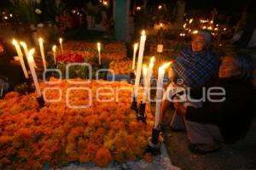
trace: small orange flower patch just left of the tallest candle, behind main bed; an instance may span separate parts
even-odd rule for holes
[[[112,61],[109,64],[109,69],[113,70],[115,75],[130,74],[132,69],[132,61]]]

